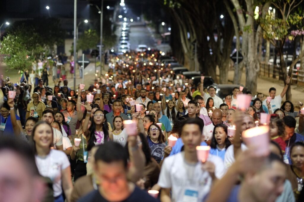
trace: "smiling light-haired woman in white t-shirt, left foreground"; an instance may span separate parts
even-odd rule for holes
[[[64,202],[62,190],[69,201],[73,189],[70,162],[62,151],[50,148],[53,145],[52,127],[45,121],[38,122],[32,138],[38,171],[53,182],[54,201]]]

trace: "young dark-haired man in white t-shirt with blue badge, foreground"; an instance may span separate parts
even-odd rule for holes
[[[162,202],[203,201],[209,193],[212,179],[217,177],[216,173],[224,173],[223,168],[211,160],[216,156],[210,155],[205,163],[198,161],[196,146],[201,144],[202,137],[199,122],[186,120],[181,132],[184,151],[165,158],[161,167],[157,184],[161,187]]]

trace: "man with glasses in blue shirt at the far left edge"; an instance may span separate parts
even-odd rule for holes
[[[9,110],[10,110],[10,107],[7,104],[7,101],[5,101],[0,108],[0,112],[1,112],[0,132],[3,133],[4,135],[14,136],[15,133],[14,133]],[[19,116],[17,116],[17,115],[15,115],[15,116],[16,116],[17,124],[19,125],[20,129],[22,129]]]

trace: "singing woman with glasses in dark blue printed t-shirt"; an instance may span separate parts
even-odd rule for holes
[[[157,161],[157,163],[160,163],[164,157],[164,148],[166,147],[161,128],[157,124],[151,124],[147,133],[151,156]]]

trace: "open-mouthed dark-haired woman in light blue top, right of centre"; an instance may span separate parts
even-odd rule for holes
[[[210,154],[221,157],[224,161],[226,149],[231,145],[227,136],[227,126],[217,124],[213,130],[213,136],[210,144]]]

